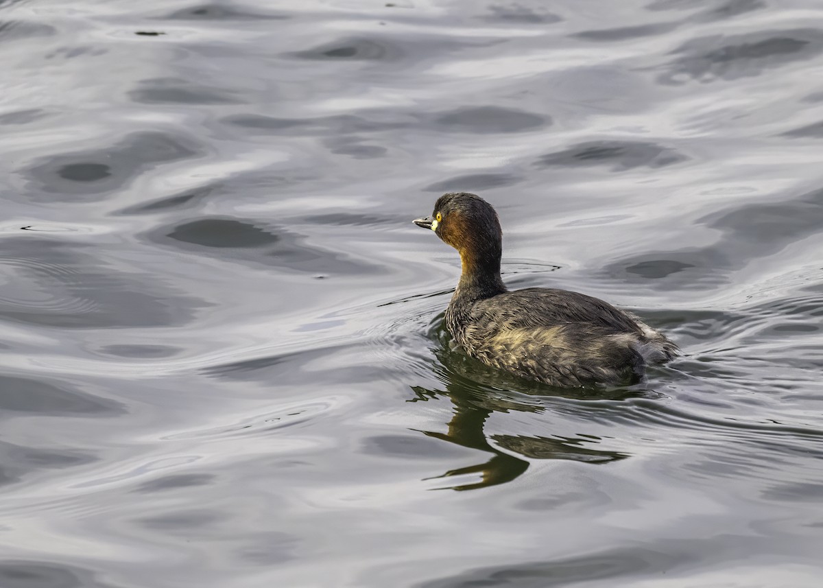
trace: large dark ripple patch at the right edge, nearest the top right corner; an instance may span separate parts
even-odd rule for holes
[[[745,35],[713,35],[690,40],[673,54],[658,82],[681,85],[755,77],[787,63],[823,53],[823,30],[766,30]]]

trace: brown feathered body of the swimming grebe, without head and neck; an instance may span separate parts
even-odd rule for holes
[[[617,384],[677,352],[672,341],[625,310],[551,288],[503,292],[470,304],[456,296],[446,322],[469,355],[550,385]]]

